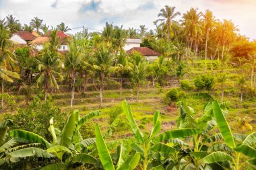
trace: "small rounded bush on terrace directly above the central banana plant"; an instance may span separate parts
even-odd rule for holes
[[[176,102],[186,97],[185,91],[181,91],[179,88],[172,88],[166,93],[166,101]]]

